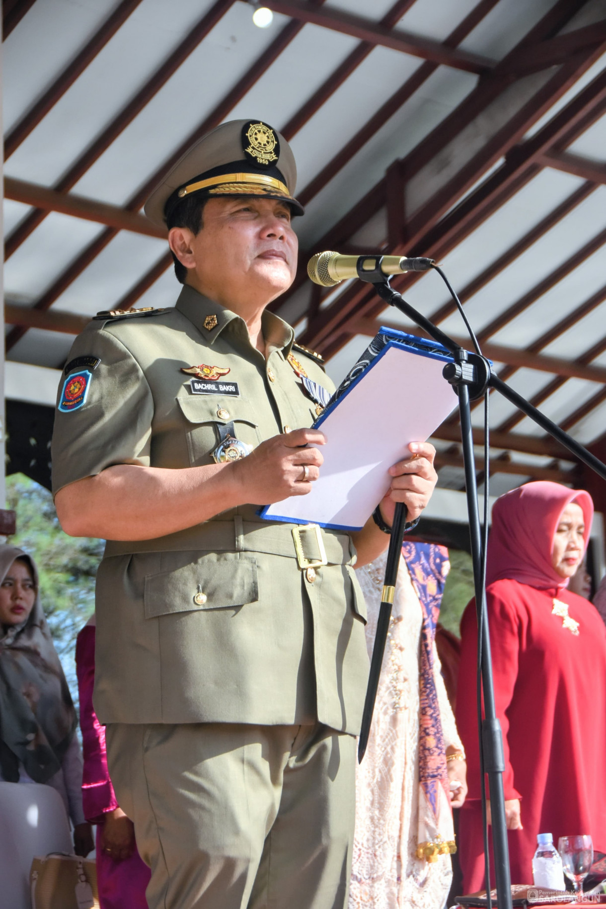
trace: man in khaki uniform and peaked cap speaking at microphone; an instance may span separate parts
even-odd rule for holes
[[[353,564],[435,484],[417,445],[357,534],[257,516],[310,491],[333,392],[265,309],[295,275],[295,180],[263,123],[194,145],[145,206],[176,305],[99,314],[59,389],[55,502],[68,534],[107,540],[94,704],[152,909],[346,903],[368,669]]]

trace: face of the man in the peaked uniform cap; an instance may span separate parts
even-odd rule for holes
[[[175,227],[171,236],[174,253],[188,268],[187,284],[228,307],[240,301],[266,305],[293,284],[298,241],[290,208],[280,200],[209,199],[199,234]]]

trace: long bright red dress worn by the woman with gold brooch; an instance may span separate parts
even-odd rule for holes
[[[486,594],[505,799],[520,798],[522,808],[523,830],[508,832],[512,884],[531,884],[537,834],[553,834],[556,847],[560,836],[591,834],[606,852],[606,629],[591,603],[555,586],[502,579]],[[551,613],[554,598],[569,605],[578,635]],[[459,831],[466,894],[484,879],[476,628],[472,601],[462,618],[456,712],[469,784]]]

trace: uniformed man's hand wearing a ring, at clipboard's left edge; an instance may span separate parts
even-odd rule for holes
[[[325,442],[318,429],[295,429],[262,442],[251,454],[230,467],[233,480],[241,489],[242,501],[266,505],[282,502],[289,495],[311,492],[324,459],[317,448],[304,446],[324,445]]]

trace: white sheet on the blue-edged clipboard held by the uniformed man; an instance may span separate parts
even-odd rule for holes
[[[320,478],[307,495],[293,495],[263,509],[263,517],[296,524],[358,530],[386,494],[388,469],[424,442],[457,405],[442,377],[447,357],[412,353],[389,345],[363,376],[329,408],[317,428]]]

